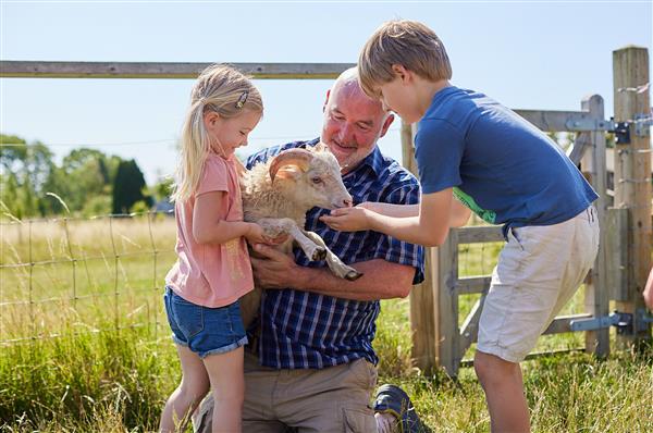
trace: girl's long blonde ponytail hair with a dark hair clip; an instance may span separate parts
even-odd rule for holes
[[[172,199],[185,201],[197,189],[204,163],[210,149],[204,115],[215,112],[223,119],[242,114],[245,110],[263,111],[258,89],[239,71],[223,64],[213,64],[199,74],[190,91],[190,107],[182,128],[181,159]]]

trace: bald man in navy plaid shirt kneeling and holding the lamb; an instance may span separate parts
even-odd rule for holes
[[[393,120],[362,92],[356,70],[348,70],[326,94],[320,139],[262,150],[249,158],[247,166],[281,150],[321,141],[341,164],[355,205],[417,203],[417,180],[377,147]],[[319,221],[328,212],[311,209],[306,228],[364,273],[355,282],[334,276],[323,262],[311,262],[300,251],[293,258],[255,246],[267,259],[251,259],[254,275],[267,290],[256,344],[259,358],[245,356],[245,432],[372,432],[377,422],[384,425],[379,430],[389,424],[391,416],[375,419],[369,406],[377,384],[374,322],[380,299],[406,297],[411,285],[423,280],[423,249],[375,232],[332,231]],[[391,386],[380,389],[374,408],[397,413],[406,405],[407,396]],[[210,403],[204,404],[196,417],[199,431],[210,431],[209,408]],[[415,419],[404,422],[416,424]]]

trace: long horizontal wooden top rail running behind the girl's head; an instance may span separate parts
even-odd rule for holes
[[[195,78],[211,63],[0,61],[9,78]],[[229,63],[255,78],[329,79],[354,63]]]

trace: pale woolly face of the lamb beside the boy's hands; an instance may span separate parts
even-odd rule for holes
[[[313,153],[309,169],[297,180],[296,197],[308,208],[346,208],[353,201],[337,160],[326,151]]]

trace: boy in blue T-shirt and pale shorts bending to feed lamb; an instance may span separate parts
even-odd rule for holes
[[[362,203],[322,221],[428,246],[467,222],[460,203],[504,224],[506,245],[481,314],[475,370],[492,431],[529,431],[519,362],[594,262],[596,193],[533,125],[485,95],[451,85],[444,46],[423,24],[385,23],[365,45],[358,66],[368,95],[404,121],[419,121],[421,202]]]

